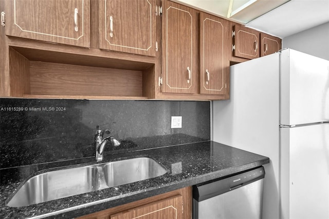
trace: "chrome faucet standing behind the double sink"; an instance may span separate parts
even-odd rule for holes
[[[103,160],[103,152],[107,142],[111,142],[114,147],[118,147],[121,142],[113,136],[103,138],[104,134],[110,134],[109,130],[101,131],[99,125],[96,126],[95,144],[96,144],[96,161]]]

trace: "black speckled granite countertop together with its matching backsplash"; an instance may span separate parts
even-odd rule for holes
[[[181,129],[171,129],[171,116],[182,116]],[[94,165],[97,125],[122,142],[105,147],[102,162],[146,156],[167,173],[40,204],[6,206],[29,177]],[[209,101],[0,98],[0,138],[1,218],[82,216],[269,162],[210,141]]]

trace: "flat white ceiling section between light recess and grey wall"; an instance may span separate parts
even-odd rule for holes
[[[291,0],[246,26],[283,39],[326,22],[329,22],[329,0]]]

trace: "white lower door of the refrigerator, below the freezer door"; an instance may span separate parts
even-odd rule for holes
[[[329,123],[280,133],[281,218],[329,218]]]

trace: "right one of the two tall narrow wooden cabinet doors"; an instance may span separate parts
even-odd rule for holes
[[[227,94],[229,23],[200,13],[200,93]]]

